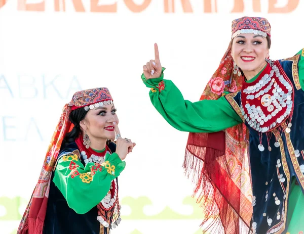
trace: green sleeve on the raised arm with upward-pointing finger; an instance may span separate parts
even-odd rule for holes
[[[217,132],[242,123],[225,97],[192,103],[184,100],[171,80],[163,78],[163,72],[155,79],[147,80],[143,74],[141,76],[144,84],[151,88],[152,104],[174,128],[187,132]]]

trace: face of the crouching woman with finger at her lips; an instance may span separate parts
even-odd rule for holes
[[[89,110],[81,127],[87,131],[91,141],[97,142],[115,138],[115,125],[119,123],[114,105],[106,105]]]

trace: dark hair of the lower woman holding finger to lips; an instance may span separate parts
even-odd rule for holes
[[[62,142],[62,147],[66,147],[69,143],[75,141],[75,139],[79,136],[79,134],[81,133],[79,123],[86,117],[87,113],[88,111],[86,111],[85,108],[79,108],[71,111],[69,115],[69,120],[72,124],[74,124],[74,127],[70,132],[65,135]]]

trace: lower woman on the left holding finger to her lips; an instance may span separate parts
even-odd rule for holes
[[[118,123],[107,88],[73,95],[63,108],[18,233],[108,234],[120,223],[117,177],[135,143],[122,139]],[[111,142],[115,138],[116,144]]]

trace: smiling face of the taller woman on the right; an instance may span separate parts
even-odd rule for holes
[[[269,57],[267,39],[253,33],[239,34],[232,42],[232,57],[240,69],[255,76],[266,65]]]

